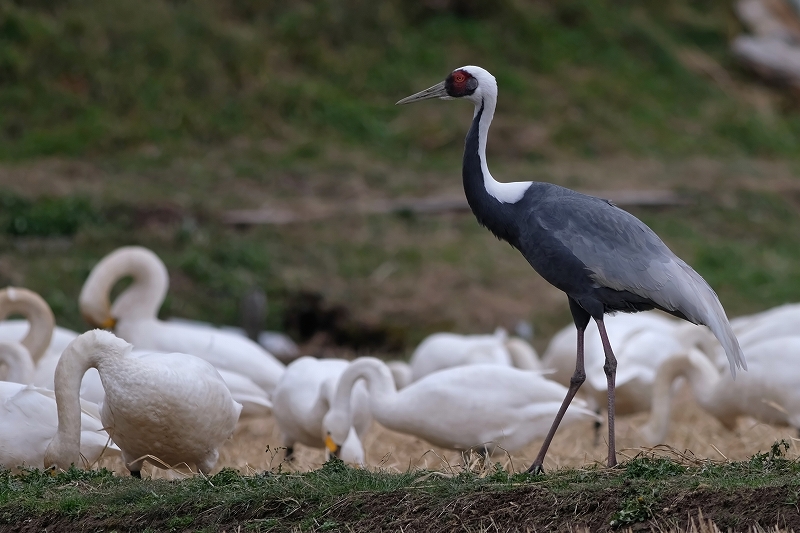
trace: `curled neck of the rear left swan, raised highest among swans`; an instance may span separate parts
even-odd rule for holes
[[[131,276],[133,283],[114,300],[111,315],[117,320],[155,318],[169,288],[164,263],[149,250],[118,252],[92,270],[81,290],[81,308],[107,310],[114,284]]]

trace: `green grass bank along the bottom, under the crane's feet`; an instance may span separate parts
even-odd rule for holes
[[[685,463],[648,455],[614,470],[564,469],[538,477],[508,473],[499,464],[441,475],[353,469],[336,460],[301,474],[245,476],[226,469],[177,482],[115,477],[105,470],[4,472],[0,530],[24,519],[48,530],[414,531],[427,524],[428,530],[444,531],[458,525],[453,520],[459,515],[467,531],[485,530],[490,518],[499,528],[583,525],[597,531],[642,522],[687,527],[697,507],[723,529],[772,527],[796,512],[800,491],[800,465],[781,457],[785,445],[776,443],[742,462]],[[741,507],[753,506],[752,512],[730,509],[737,499]],[[431,522],[433,516],[439,518]],[[780,525],[793,525],[794,516]]]

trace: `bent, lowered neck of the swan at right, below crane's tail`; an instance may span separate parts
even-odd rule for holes
[[[667,436],[672,412],[672,384],[681,376],[689,381],[697,403],[706,409],[710,406],[714,385],[720,379],[719,372],[711,361],[697,350],[672,357],[661,365],[653,383],[653,399],[648,421],[658,442],[663,442]],[[708,410],[713,411],[713,408]]]

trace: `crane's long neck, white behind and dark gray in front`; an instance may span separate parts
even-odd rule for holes
[[[482,98],[475,106],[472,126],[464,143],[464,192],[478,222],[498,238],[514,244],[511,206],[522,199],[531,183],[500,183],[489,172],[486,140],[495,106],[496,99],[491,97]]]

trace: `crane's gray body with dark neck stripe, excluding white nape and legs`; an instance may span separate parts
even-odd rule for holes
[[[731,372],[737,363],[744,366],[716,293],[641,220],[552,183],[531,182],[515,202],[489,194],[479,149],[482,113],[481,107],[467,134],[463,166],[464,191],[479,223],[593,318],[661,309],[709,326],[729,355]]]

